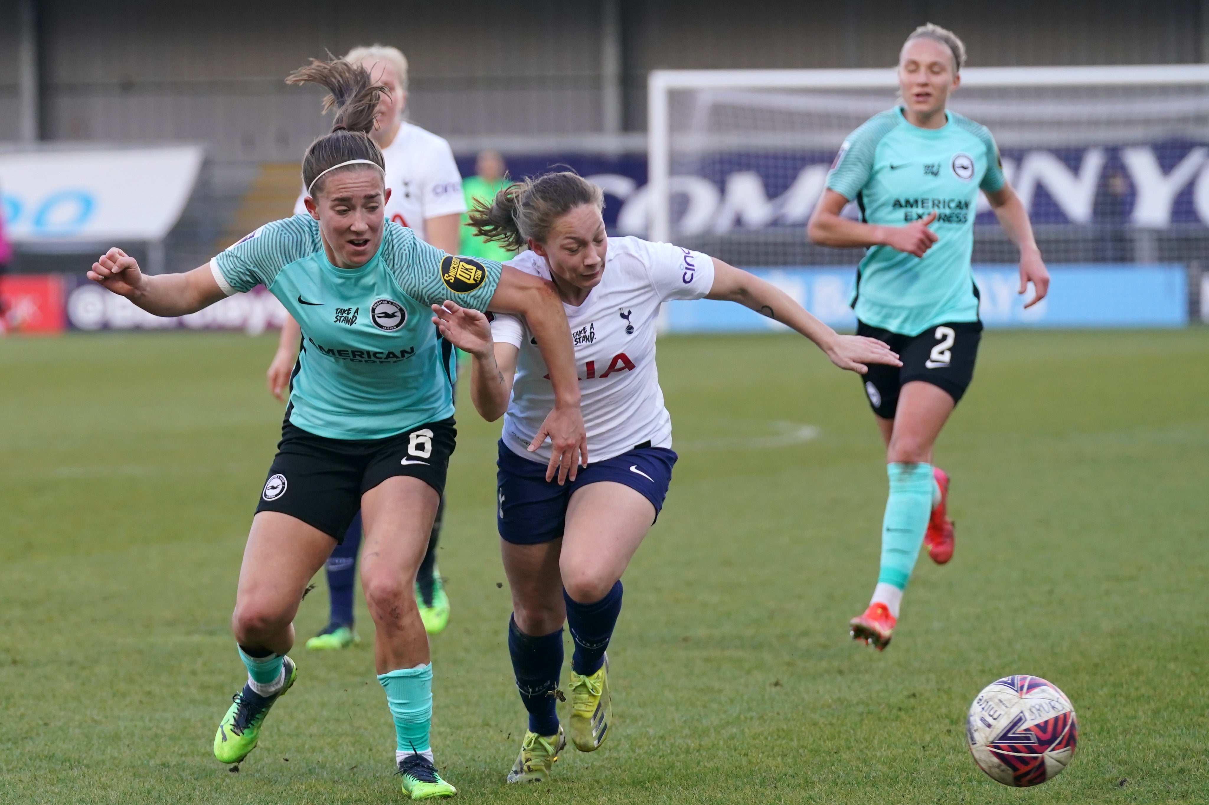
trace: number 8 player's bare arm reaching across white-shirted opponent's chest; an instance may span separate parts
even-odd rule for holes
[[[530,451],[550,438],[550,465],[545,480],[559,474],[559,483],[575,479],[577,467],[588,467],[588,433],[579,411],[579,377],[575,375],[575,351],[571,346],[571,328],[562,300],[549,282],[504,266],[496,294],[487,307],[501,313],[523,315],[528,323],[554,387],[554,410],[538,429]]]

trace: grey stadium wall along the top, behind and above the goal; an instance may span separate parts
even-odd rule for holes
[[[602,126],[603,0],[164,4],[41,0],[42,129],[52,140],[196,140],[224,160],[294,160],[318,93],[282,79],[307,57],[382,41],[412,63],[411,116],[444,135]],[[349,11],[349,10],[353,11]],[[1198,62],[1198,0],[863,4],[620,0],[624,127],[646,127],[654,68],[880,66],[914,25],[959,31],[970,63]],[[17,137],[16,4],[0,4],[0,140]]]

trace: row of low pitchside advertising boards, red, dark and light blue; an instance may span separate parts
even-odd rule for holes
[[[848,302],[852,268],[752,268],[808,311],[838,329],[851,330],[856,319]],[[1179,263],[1051,265],[1049,296],[1030,309],[1016,291],[1014,265],[976,265],[988,328],[1178,328],[1190,322],[1188,273]],[[1201,278],[1199,313],[1209,322],[1209,274]],[[204,311],[161,318],[110,294],[83,277],[25,274],[0,283],[10,325],[19,332],[50,334],[64,329],[98,330],[241,330],[259,335],[279,328],[285,308],[261,286],[236,294]],[[1031,295],[1031,290],[1030,290]],[[760,332],[783,325],[737,305],[701,300],[664,306],[664,332]]]

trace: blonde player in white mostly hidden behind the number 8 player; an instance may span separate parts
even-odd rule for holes
[[[462,197],[462,174],[447,141],[404,120],[407,109],[406,57],[395,47],[371,45],[354,47],[345,59],[365,66],[374,80],[387,88],[380,95],[376,128],[370,134],[386,157],[386,183],[392,191],[386,205],[387,219],[411,227],[417,237],[442,251],[459,254],[458,228],[467,210]],[[294,205],[295,215],[306,213],[305,198],[303,191]],[[279,400],[289,386],[300,337],[297,323],[288,318],[282,326],[277,354],[268,366],[268,388]],[[436,567],[444,515],[442,497],[428,552],[416,574],[416,602],[429,635],[442,631],[450,618],[449,596]],[[353,630],[353,585],[360,546],[361,519],[358,515],[348,527],[345,542],[328,561],[325,569],[331,612],[328,625],[307,641],[308,649],[341,649],[358,641]]]

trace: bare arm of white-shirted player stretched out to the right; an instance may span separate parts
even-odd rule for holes
[[[713,257],[713,285],[710,286],[706,299],[739,302],[760,315],[789,325],[814,341],[840,369],[863,375],[868,371],[866,364],[902,366],[898,355],[884,342],[864,336],[839,335],[808,313],[776,285],[717,257]]]

